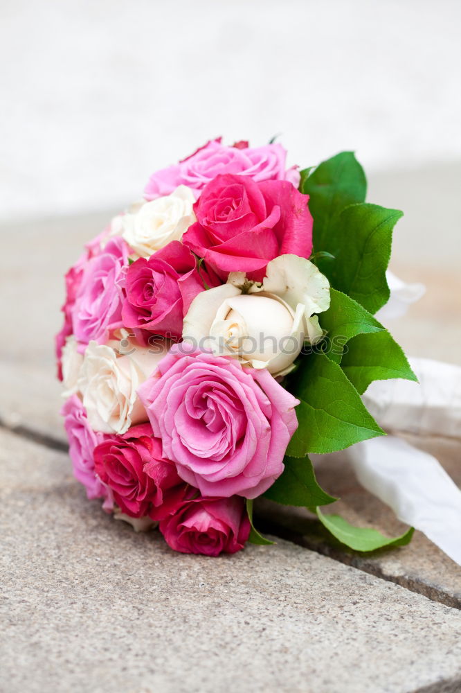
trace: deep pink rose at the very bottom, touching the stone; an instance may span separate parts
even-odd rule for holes
[[[197,498],[163,520],[160,531],[174,551],[219,556],[243,549],[250,522],[242,498]]]

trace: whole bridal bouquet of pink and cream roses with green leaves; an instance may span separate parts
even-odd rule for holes
[[[253,526],[260,495],[354,548],[410,541],[320,509],[336,499],[308,456],[383,435],[361,395],[415,380],[374,317],[401,212],[365,191],[352,152],[298,171],[279,143],[215,139],[88,243],[56,337],[88,498],[181,552],[270,543]]]

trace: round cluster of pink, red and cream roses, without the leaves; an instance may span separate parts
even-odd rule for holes
[[[280,477],[284,388],[320,339],[329,282],[280,144],[210,141],[154,173],[66,274],[56,337],[75,477],[170,547],[244,547],[246,500]]]

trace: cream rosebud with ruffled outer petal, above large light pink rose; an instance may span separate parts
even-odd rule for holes
[[[184,318],[183,339],[283,376],[305,340],[314,344],[322,337],[314,313],[328,307],[329,283],[316,265],[282,255],[269,262],[262,284],[233,272],[224,286],[197,295]]]

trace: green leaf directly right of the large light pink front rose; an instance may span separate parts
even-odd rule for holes
[[[301,400],[296,407],[298,429],[287,448],[291,457],[333,453],[383,435],[341,366],[324,353],[302,359],[289,390]]]

